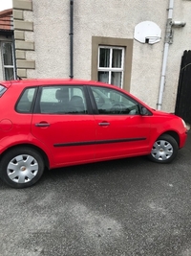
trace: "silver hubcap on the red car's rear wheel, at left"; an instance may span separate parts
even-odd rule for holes
[[[7,173],[13,182],[26,183],[37,175],[38,163],[32,155],[20,154],[11,159]]]

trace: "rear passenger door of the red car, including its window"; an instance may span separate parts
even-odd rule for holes
[[[95,120],[83,86],[42,86],[32,117],[32,135],[52,152],[57,166],[95,157]],[[91,144],[91,145],[90,145]]]

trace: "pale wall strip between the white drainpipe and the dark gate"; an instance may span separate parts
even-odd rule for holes
[[[183,28],[174,28],[173,44],[169,47],[166,84],[162,109],[174,111],[180,77],[180,62],[184,50],[191,50],[191,1],[175,0],[173,20],[186,22]]]

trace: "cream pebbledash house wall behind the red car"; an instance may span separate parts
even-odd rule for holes
[[[81,0],[74,2],[74,79],[97,79],[100,42],[126,47],[124,89],[156,108],[164,50],[168,0]],[[184,50],[191,48],[191,1],[174,1],[173,20],[186,22],[173,29],[169,46],[162,110],[174,111]],[[13,0],[18,76],[69,78],[70,0]],[[136,25],[155,22],[161,29],[158,43],[134,39]]]

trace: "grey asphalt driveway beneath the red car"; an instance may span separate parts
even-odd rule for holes
[[[136,157],[0,181],[1,256],[191,256],[191,132],[172,164]]]

